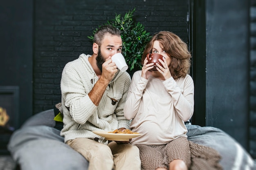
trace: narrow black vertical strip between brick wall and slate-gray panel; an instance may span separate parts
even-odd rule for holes
[[[192,71],[195,86],[195,107],[192,123],[205,126],[206,110],[206,25],[204,0],[191,0]]]

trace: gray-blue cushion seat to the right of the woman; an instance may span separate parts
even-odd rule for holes
[[[186,125],[188,139],[197,144],[216,149],[224,170],[255,170],[256,165],[247,151],[224,131],[206,126]]]

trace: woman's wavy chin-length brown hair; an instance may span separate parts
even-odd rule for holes
[[[153,35],[153,38],[147,43],[141,58],[141,64],[144,63],[146,55],[152,53],[154,41],[159,41],[160,47],[171,57],[169,69],[174,79],[185,77],[189,74],[191,66],[191,53],[188,51],[187,44],[177,35],[169,31],[160,31]]]

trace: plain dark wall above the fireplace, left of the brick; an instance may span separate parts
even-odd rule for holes
[[[0,86],[18,89],[17,126],[32,115],[32,2],[2,0],[0,5]]]

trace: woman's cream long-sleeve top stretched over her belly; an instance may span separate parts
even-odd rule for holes
[[[132,119],[130,129],[142,135],[131,144],[161,145],[186,136],[184,121],[194,111],[194,84],[190,75],[174,80],[132,76],[124,116]]]

